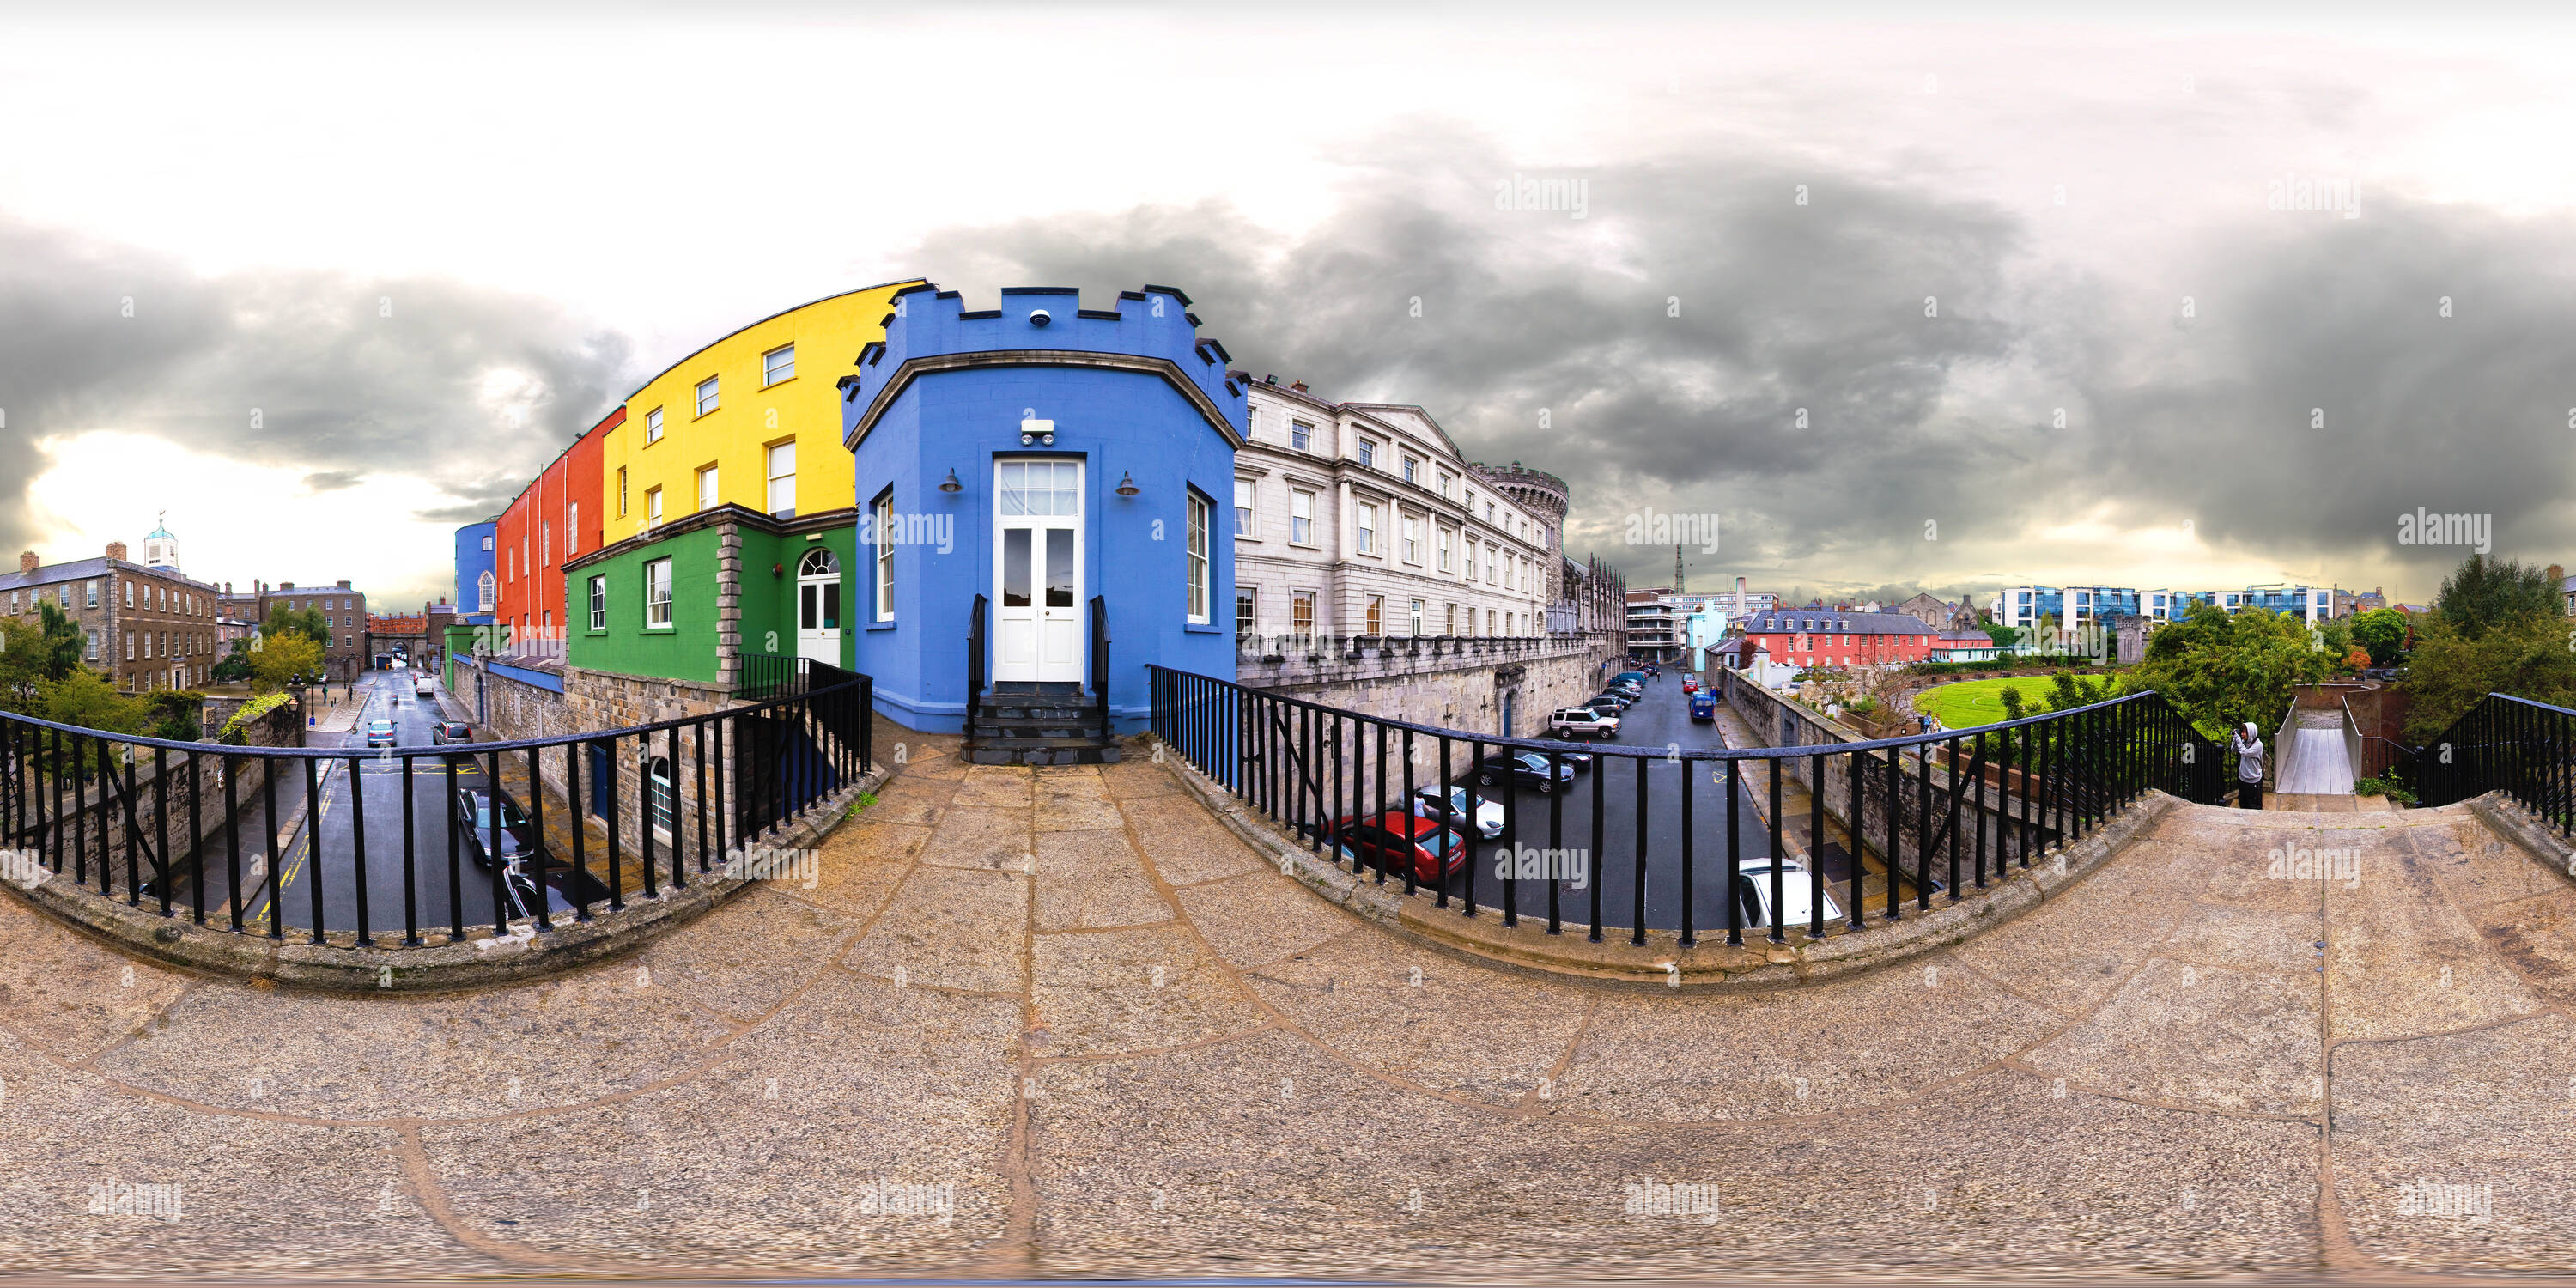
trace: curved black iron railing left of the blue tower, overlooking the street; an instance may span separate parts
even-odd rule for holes
[[[531,742],[227,747],[0,714],[0,876],[273,940],[392,948],[394,907],[399,945],[587,922],[721,868],[868,770],[871,680],[814,670],[835,683]]]

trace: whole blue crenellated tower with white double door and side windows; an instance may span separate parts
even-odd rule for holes
[[[999,309],[894,296],[886,340],[842,376],[855,665],[886,719],[974,716],[1012,742],[1012,711],[1087,708],[1128,734],[1151,716],[1149,665],[1234,680],[1218,515],[1247,392],[1188,307],[1170,286],[1115,309],[1059,286],[1005,289]]]

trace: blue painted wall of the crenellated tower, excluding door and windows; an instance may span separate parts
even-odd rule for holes
[[[1033,309],[1046,309],[1051,322],[1033,325]],[[1090,368],[1079,358],[1087,353],[1164,358],[1175,371]],[[902,379],[907,363],[935,368]],[[1175,379],[1198,389],[1208,407]],[[999,312],[966,312],[953,291],[925,286],[896,296],[886,340],[860,353],[845,394],[842,440],[855,453],[860,513],[891,487],[907,526],[912,515],[927,520],[912,526],[914,533],[945,536],[945,549],[940,541],[894,544],[891,623],[876,621],[876,549],[858,546],[855,665],[876,677],[876,703],[889,719],[925,732],[963,729],[971,605],[976,595],[994,595],[999,456],[1084,464],[1084,647],[1087,600],[1103,595],[1110,714],[1121,732],[1146,726],[1149,662],[1234,680],[1234,446],[1244,430],[1244,392],[1226,381],[1224,345],[1198,337],[1188,296],[1149,286],[1121,294],[1115,312],[1084,314],[1069,289],[1010,289]],[[1023,417],[1054,420],[1054,446],[1023,446]],[[940,492],[951,471],[961,489]],[[1139,495],[1115,495],[1123,477],[1133,477]],[[1206,623],[1188,621],[1190,489],[1208,502]]]

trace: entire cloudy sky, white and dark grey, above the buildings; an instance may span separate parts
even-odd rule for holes
[[[417,603],[652,371],[930,276],[1182,286],[1646,585],[1649,513],[1811,592],[2576,564],[2566,23],[1772,10],[5,10],[0,546]]]

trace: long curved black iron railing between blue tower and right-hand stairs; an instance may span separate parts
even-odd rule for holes
[[[2148,788],[2218,801],[2223,750],[2156,693],[1981,729],[1806,747],[1625,747],[1388,721],[1151,667],[1154,734],[1332,863],[1502,922],[1726,943],[1963,896]],[[1494,793],[1479,799],[1479,788]],[[1806,858],[1783,811],[1806,796]],[[1826,814],[1834,814],[1832,819]],[[1445,827],[1432,827],[1435,819]],[[1414,832],[1417,848],[1399,832]],[[1716,855],[1723,853],[1723,860]],[[1479,858],[1484,855],[1484,858]],[[1492,871],[1484,871],[1492,863]],[[1391,871],[1401,868],[1401,871]],[[1535,878],[1530,876],[1535,871]],[[1589,907],[1569,909],[1566,896]]]

